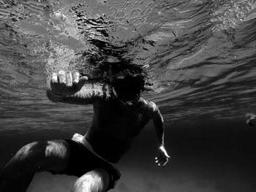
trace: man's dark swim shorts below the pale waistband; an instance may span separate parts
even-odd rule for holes
[[[121,172],[104,158],[97,155],[97,153],[84,147],[79,142],[73,140],[65,140],[70,147],[69,164],[66,169],[61,172],[53,172],[53,174],[68,174],[81,177],[86,172],[90,172],[93,169],[102,168],[105,169],[110,176],[110,183],[108,190],[114,188],[117,180],[121,177]]]

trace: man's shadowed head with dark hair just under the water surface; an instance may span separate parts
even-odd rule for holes
[[[106,59],[99,69],[103,73],[103,82],[111,85],[114,96],[125,104],[134,104],[146,90],[147,72],[127,59]]]

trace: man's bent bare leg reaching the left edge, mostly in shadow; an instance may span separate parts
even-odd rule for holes
[[[61,171],[67,166],[69,145],[64,140],[32,142],[16,153],[0,172],[0,191],[26,191],[35,172]]]

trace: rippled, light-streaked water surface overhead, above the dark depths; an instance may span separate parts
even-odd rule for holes
[[[0,131],[74,128],[92,110],[53,104],[48,74],[85,52],[132,59],[166,123],[255,111],[255,1],[0,1]],[[97,62],[97,57],[92,63]],[[63,125],[60,126],[60,125]]]

